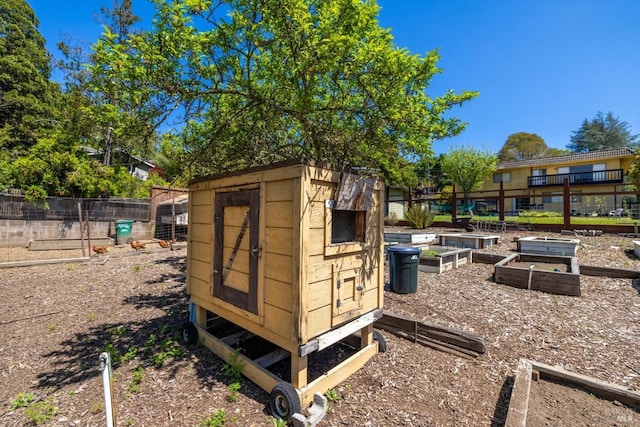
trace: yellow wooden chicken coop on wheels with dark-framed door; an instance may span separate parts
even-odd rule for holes
[[[384,295],[383,200],[381,180],[306,160],[192,182],[185,340],[239,364],[270,393],[274,416],[300,412],[384,350],[373,331]],[[236,350],[252,336],[274,348]],[[351,356],[309,378],[309,357],[347,340]],[[290,381],[268,369],[288,360]]]

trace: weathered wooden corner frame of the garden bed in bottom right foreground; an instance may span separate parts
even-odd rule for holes
[[[555,366],[533,360],[520,359],[513,389],[511,390],[511,400],[509,401],[505,427],[525,427],[527,425],[531,380],[537,381],[538,378],[570,383],[586,389],[600,398],[617,400],[631,408],[640,407],[640,393]]]

